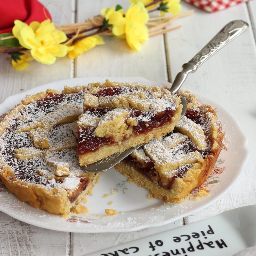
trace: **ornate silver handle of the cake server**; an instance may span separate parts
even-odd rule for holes
[[[170,91],[175,94],[180,89],[189,73],[196,72],[200,65],[217,53],[218,50],[222,49],[233,39],[242,34],[248,27],[248,23],[242,20],[229,22],[188,63],[182,65],[182,71],[176,75]]]

